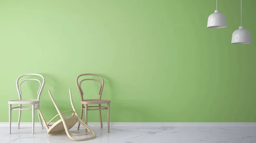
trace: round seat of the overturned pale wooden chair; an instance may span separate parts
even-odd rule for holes
[[[68,129],[71,129],[73,126],[75,126],[76,122],[78,121],[78,118],[76,115],[71,115],[71,116],[64,117],[64,120],[67,124]],[[47,130],[47,132],[50,135],[65,132],[65,128],[64,128],[62,120],[60,119],[57,122],[55,122],[54,124],[52,124],[52,126],[50,126],[50,128]]]

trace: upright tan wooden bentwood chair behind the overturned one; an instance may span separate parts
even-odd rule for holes
[[[96,79],[82,79],[80,82],[78,82],[79,78],[81,76],[97,76],[101,79],[101,83],[96,80]],[[87,80],[92,80],[92,81],[96,81],[99,83],[99,99],[85,99],[83,98],[84,92],[81,88],[81,83],[83,81],[87,81]],[[79,90],[80,96],[81,96],[81,118],[83,117],[83,110],[85,111],[85,123],[87,124],[88,120],[87,120],[87,112],[88,110],[99,110],[99,119],[100,119],[100,126],[102,128],[102,114],[101,114],[101,110],[108,110],[108,132],[109,132],[109,118],[110,118],[110,100],[104,100],[101,99],[102,97],[102,90],[104,87],[104,80],[101,76],[97,75],[97,74],[93,74],[93,73],[85,73],[85,74],[81,74],[76,78],[76,86]],[[99,104],[99,106],[88,106],[89,104]],[[108,104],[107,107],[101,106],[101,104]],[[93,108],[93,109],[90,109]],[[78,124],[77,129],[79,130],[79,126],[80,126],[80,122]],[[87,132],[87,130],[85,130],[85,132]]]

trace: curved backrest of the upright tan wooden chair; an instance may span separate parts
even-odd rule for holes
[[[79,80],[79,78],[80,78],[81,76],[98,76],[98,77],[101,79],[101,83],[100,83],[98,80],[96,80],[96,79],[82,79],[80,82],[78,82],[78,80]],[[97,75],[97,74],[93,74],[93,73],[84,73],[84,74],[81,74],[81,75],[77,76],[77,78],[76,78],[76,86],[77,86],[77,88],[78,88],[78,90],[79,90],[79,93],[80,93],[80,95],[81,95],[81,100],[84,100],[84,98],[83,98],[84,92],[83,92],[83,90],[82,90],[82,88],[81,88],[81,83],[82,83],[83,81],[87,81],[87,80],[91,80],[91,81],[96,81],[96,82],[98,82],[98,84],[99,84],[99,99],[101,99],[102,91],[103,91],[103,87],[104,87],[104,80],[103,80],[103,78],[102,78],[101,76]]]

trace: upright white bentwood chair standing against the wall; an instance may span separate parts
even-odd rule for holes
[[[20,82],[20,84],[22,84],[24,81],[29,81],[29,80],[38,81],[40,86],[39,86],[39,90],[37,93],[37,95],[38,95],[37,99],[22,99],[21,98],[22,93],[21,93],[21,89],[20,89],[19,79],[23,76],[40,76],[43,79],[43,83],[41,83],[41,81],[39,81],[38,79],[24,79],[23,81]],[[39,109],[40,96],[41,96],[42,90],[44,88],[44,82],[45,82],[44,76],[42,76],[40,74],[36,74],[36,73],[24,74],[17,78],[16,87],[17,87],[17,92],[19,95],[19,100],[8,101],[8,104],[9,104],[9,134],[11,134],[12,110],[19,110],[18,129],[20,129],[21,110],[32,110],[32,134],[34,134],[35,109]],[[12,104],[19,104],[20,106],[12,107]],[[32,104],[32,106],[22,106],[22,104]],[[37,104],[37,106],[35,106],[35,104]],[[42,129],[44,129],[39,113],[38,113],[38,118],[41,123]]]

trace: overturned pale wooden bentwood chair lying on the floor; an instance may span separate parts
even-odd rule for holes
[[[56,102],[54,101],[53,97],[52,97],[52,94],[51,94],[51,91],[48,90],[49,92],[49,95],[52,99],[52,102],[56,108],[56,110],[58,111],[58,115],[56,115],[55,117],[52,118],[52,120],[49,121],[49,123],[47,123],[44,119],[44,116],[42,115],[40,109],[38,109],[39,111],[39,114],[44,122],[44,125],[47,129],[47,133],[50,134],[50,135],[53,135],[53,134],[58,134],[58,133],[61,133],[61,132],[66,132],[67,133],[67,136],[72,139],[72,140],[76,140],[76,141],[82,141],[82,140],[90,140],[94,137],[96,137],[96,134],[95,132],[93,131],[93,129],[90,128],[90,126],[88,126],[87,124],[85,124],[81,118],[79,117],[79,115],[77,114],[76,112],[76,108],[73,104],[73,100],[72,100],[72,93],[71,93],[71,90],[69,89],[69,92],[70,92],[70,102],[71,102],[71,106],[73,108],[73,111],[65,111],[65,112],[61,112],[59,109],[58,109],[58,106],[56,104]],[[67,117],[63,117],[62,114],[63,113],[67,113],[67,112],[72,112],[72,115],[70,116],[67,116]],[[58,120],[57,122],[53,123],[53,124],[50,124],[56,117],[60,116],[60,120]],[[89,130],[89,132],[87,133],[83,133],[83,134],[74,134],[72,132],[70,132],[70,129],[76,124],[76,122],[79,120],[79,122],[81,122],[81,124],[85,127],[85,129]],[[93,133],[93,136],[90,136],[90,137],[84,137],[84,138],[74,138],[72,137],[72,135],[75,135],[75,136],[81,136],[81,135],[88,135],[90,133]]]

